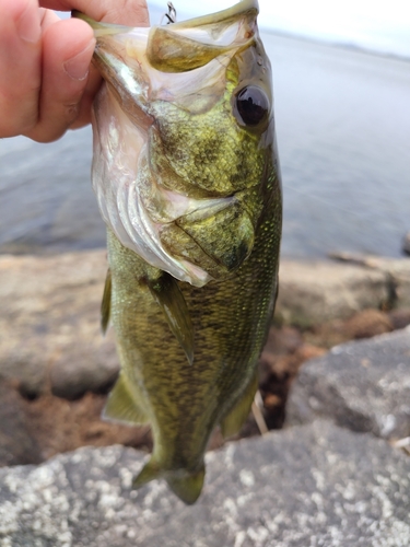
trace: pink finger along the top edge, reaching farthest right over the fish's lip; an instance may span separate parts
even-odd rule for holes
[[[149,26],[145,0],[39,0],[39,5],[51,10],[79,10],[95,21],[124,25]]]

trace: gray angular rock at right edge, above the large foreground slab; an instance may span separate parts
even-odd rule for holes
[[[305,363],[286,424],[318,417],[385,439],[410,435],[410,328],[335,347]]]

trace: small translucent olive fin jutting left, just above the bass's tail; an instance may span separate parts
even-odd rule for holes
[[[103,418],[121,421],[131,426],[147,423],[149,418],[130,394],[126,379],[119,375],[115,386],[108,395],[108,400],[103,410]]]

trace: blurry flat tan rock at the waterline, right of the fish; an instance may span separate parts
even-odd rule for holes
[[[282,259],[279,279],[276,316],[302,327],[379,309],[390,298],[384,271],[350,264]]]

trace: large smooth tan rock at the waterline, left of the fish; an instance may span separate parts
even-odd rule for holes
[[[68,398],[113,383],[115,346],[99,329],[105,255],[0,256],[0,380]]]

